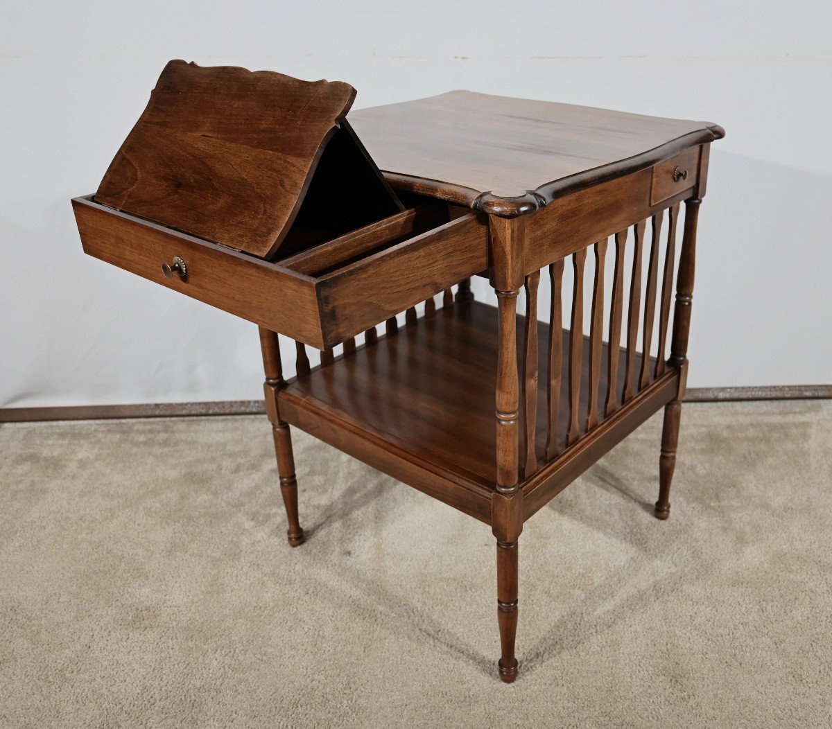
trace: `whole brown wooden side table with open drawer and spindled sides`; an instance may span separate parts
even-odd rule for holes
[[[662,407],[655,514],[670,513],[723,131],[468,91],[350,126],[354,93],[171,62],[97,194],[73,200],[78,227],[88,254],[260,326],[290,544],[290,425],[491,525],[511,682],[523,523]],[[497,307],[473,300],[478,274]],[[278,333],[297,343],[289,380]]]

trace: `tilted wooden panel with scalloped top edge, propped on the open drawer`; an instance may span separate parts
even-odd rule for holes
[[[354,98],[340,81],[171,61],[96,199],[266,257]]]

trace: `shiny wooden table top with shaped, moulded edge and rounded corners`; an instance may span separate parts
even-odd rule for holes
[[[449,91],[353,111],[349,122],[394,185],[474,206],[485,194],[558,195],[720,139],[707,121]]]

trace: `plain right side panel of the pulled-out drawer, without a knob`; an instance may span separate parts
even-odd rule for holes
[[[333,346],[488,268],[488,225],[478,214],[394,245],[324,276],[324,342]]]

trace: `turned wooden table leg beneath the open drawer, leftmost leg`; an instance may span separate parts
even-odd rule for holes
[[[286,532],[289,544],[297,547],[304,543],[304,530],[298,520],[298,483],[295,479],[295,456],[292,453],[292,434],[289,424],[280,420],[277,396],[283,387],[283,367],[280,363],[280,347],[277,334],[260,327],[260,348],[263,351],[263,368],[265,370],[265,409],[271,422],[275,437],[277,471],[280,475],[280,493],[286,507],[289,530]]]

